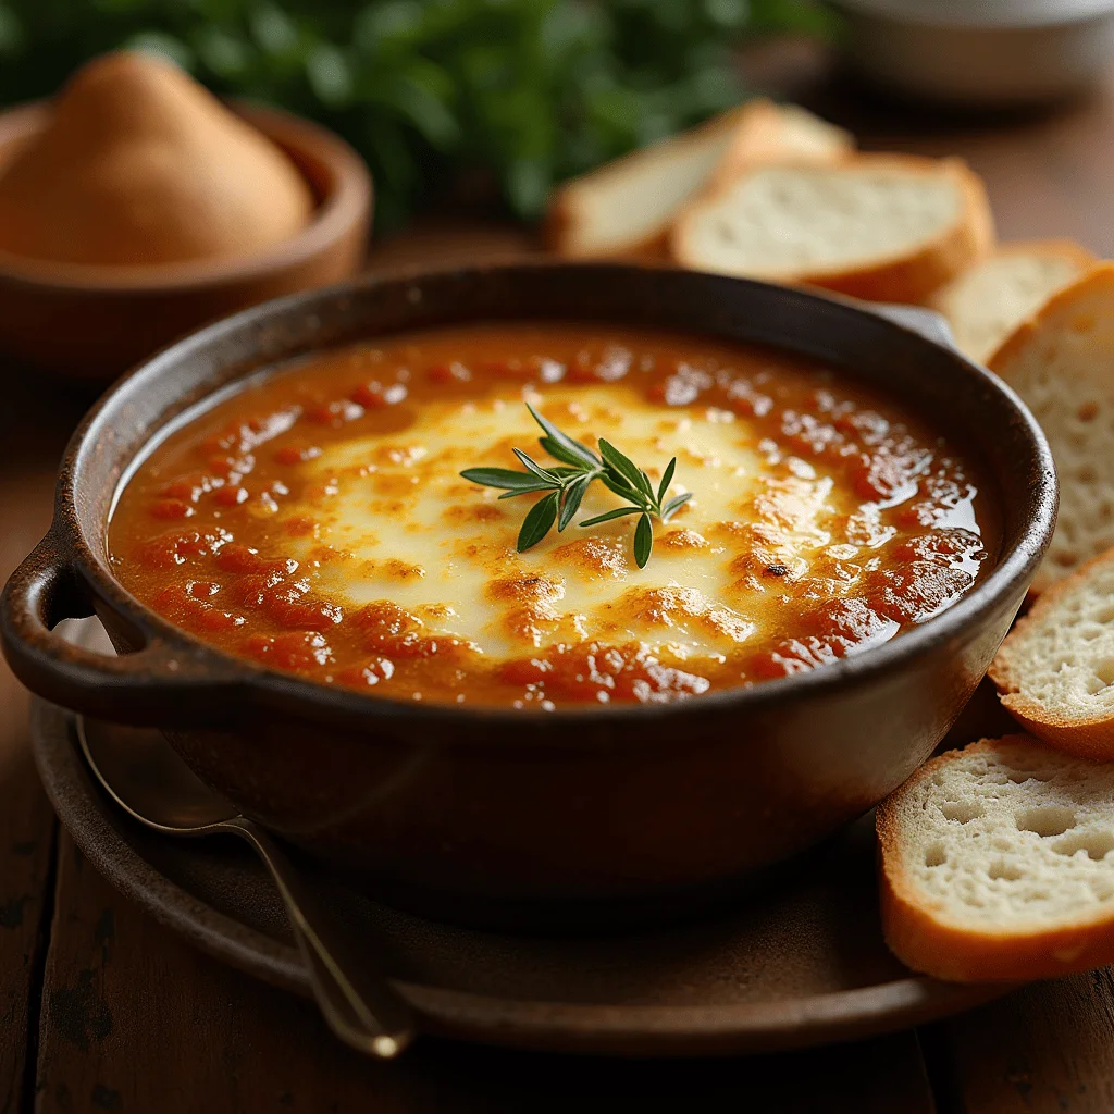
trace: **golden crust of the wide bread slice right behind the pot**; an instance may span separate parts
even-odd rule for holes
[[[870,168],[882,174],[906,176],[946,175],[959,190],[958,217],[930,240],[890,255],[880,255],[869,263],[857,262],[847,267],[821,271],[760,273],[755,270],[754,277],[807,283],[868,301],[920,302],[994,247],[994,217],[986,187],[983,179],[962,159],[930,159],[915,155],[854,155],[841,160],[831,172],[838,174],[844,168],[856,172]],[[756,167],[746,173],[761,173],[762,169]],[[684,209],[673,226],[670,240],[671,252],[677,263],[696,271],[705,270],[693,244],[694,228],[698,221],[707,216],[710,209],[714,211],[725,201],[739,182],[739,177],[732,179]]]

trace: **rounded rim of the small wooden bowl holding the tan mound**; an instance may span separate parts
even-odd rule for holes
[[[125,297],[238,285],[315,258],[346,235],[355,221],[365,218],[373,201],[371,172],[344,139],[313,120],[260,101],[232,99],[225,104],[281,149],[305,152],[328,166],[329,192],[319,201],[303,228],[248,255],[182,263],[60,263],[0,250],[0,283]],[[0,136],[11,143],[31,135],[42,127],[49,113],[49,100],[4,109],[0,111]],[[297,169],[302,174],[301,168]]]

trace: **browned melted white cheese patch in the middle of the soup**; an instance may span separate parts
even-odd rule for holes
[[[737,558],[758,526],[770,564],[800,571],[833,544],[843,567],[858,548],[833,539],[837,512],[853,507],[833,480],[803,461],[799,476],[772,480],[761,436],[726,410],[685,408],[663,413],[620,384],[587,394],[556,387],[530,401],[578,439],[614,440],[657,482],[677,457],[673,495],[697,492],[680,516],[658,526],[653,559],[632,557],[636,518],[592,530],[556,529],[524,554],[515,548],[522,516],[536,497],[500,492],[460,478],[479,465],[505,466],[512,447],[536,452],[538,428],[522,391],[481,402],[432,403],[402,433],[359,438],[326,449],[306,467],[321,492],[287,514],[309,514],[314,539],[292,547],[302,560],[316,545],[339,549],[321,585],[356,608],[390,599],[419,615],[430,633],[472,643],[501,657],[553,641],[637,641],[680,656],[725,654],[750,638],[760,609],[746,606]],[[328,495],[324,492],[329,492]],[[589,488],[578,519],[623,506],[602,483]],[[853,551],[853,553],[852,553]],[[843,590],[854,583],[842,582]]]

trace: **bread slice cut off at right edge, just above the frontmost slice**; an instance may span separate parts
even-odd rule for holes
[[[1057,582],[990,666],[1001,703],[1069,754],[1114,761],[1114,549]]]

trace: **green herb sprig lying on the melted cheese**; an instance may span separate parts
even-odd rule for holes
[[[615,510],[585,519],[580,526],[598,526],[600,522],[609,522],[613,518],[638,515],[638,525],[634,531],[634,559],[638,568],[645,568],[654,548],[654,527],[651,519],[656,518],[658,521],[667,522],[693,497],[692,491],[685,491],[668,501],[663,501],[670,483],[673,482],[677,458],[674,457],[668,462],[655,490],[649,477],[610,441],[599,438],[597,455],[586,444],[563,433],[553,422],[543,418],[529,402],[526,403],[526,409],[546,434],[538,438],[538,443],[561,463],[557,468],[543,468],[521,449],[515,449],[515,456],[526,469],[524,472],[516,472],[509,468],[468,468],[460,475],[472,483],[500,488],[505,491],[499,496],[500,499],[514,499],[516,496],[537,491],[547,492],[530,508],[522,520],[522,528],[518,531],[519,553],[536,546],[549,532],[554,522],[557,524],[557,531],[563,531],[580,509],[584,494],[593,480],[599,480],[608,490],[625,499],[627,506],[616,507]]]

